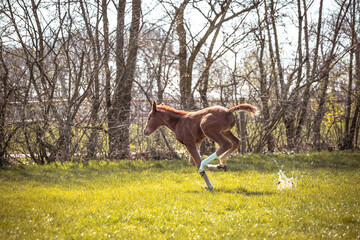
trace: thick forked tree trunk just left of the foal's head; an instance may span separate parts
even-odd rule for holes
[[[128,55],[124,63],[124,13],[125,0],[118,7],[117,51],[116,51],[116,89],[113,96],[109,119],[109,156],[126,158],[129,156],[129,128],[131,92],[134,81],[138,36],[141,16],[141,0],[132,1],[132,18]]]

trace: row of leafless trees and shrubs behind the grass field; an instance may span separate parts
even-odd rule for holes
[[[359,12],[359,0],[3,0],[0,163],[181,156],[167,129],[142,134],[151,99],[257,106],[247,151],[357,149]]]

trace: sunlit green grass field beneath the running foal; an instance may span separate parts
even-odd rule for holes
[[[215,162],[215,161],[214,161]],[[356,239],[360,152],[245,155],[209,172],[187,160],[0,170],[0,239]],[[277,172],[297,177],[277,190]]]

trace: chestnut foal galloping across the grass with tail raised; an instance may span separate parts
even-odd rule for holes
[[[240,104],[230,109],[214,106],[197,112],[185,112],[163,104],[157,106],[153,101],[144,134],[149,136],[160,126],[167,126],[175,133],[176,139],[185,145],[190,154],[189,161],[198,168],[200,175],[204,177],[207,188],[212,190],[213,187],[204,167],[210,170],[224,169],[226,171],[226,158],[241,144],[240,139],[230,131],[235,125],[234,111],[255,114],[257,109],[250,104]],[[219,149],[201,161],[199,148],[206,137],[219,144]],[[217,156],[219,156],[220,164],[208,165]]]

